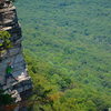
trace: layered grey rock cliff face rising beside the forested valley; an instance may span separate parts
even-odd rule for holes
[[[22,56],[22,34],[20,24],[18,23],[16,7],[10,1],[2,0],[0,2],[0,30],[8,31],[11,34],[12,41],[12,48],[3,51],[0,56],[0,84],[8,93],[16,92],[22,97],[32,89],[32,82],[27,73],[26,61]],[[12,75],[18,81],[14,81],[12,78],[7,79],[7,84],[4,85],[8,62],[11,62],[13,67]],[[17,101],[19,100],[20,97]]]

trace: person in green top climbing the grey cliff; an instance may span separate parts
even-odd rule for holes
[[[6,69],[6,84],[7,84],[7,79],[9,78],[12,78],[14,79],[16,81],[18,81],[13,75],[12,75],[12,65],[11,65],[11,62],[8,62],[8,65],[7,65],[7,69]]]

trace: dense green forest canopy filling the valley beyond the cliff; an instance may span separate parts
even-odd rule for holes
[[[34,111],[111,107],[111,0],[19,0]]]

